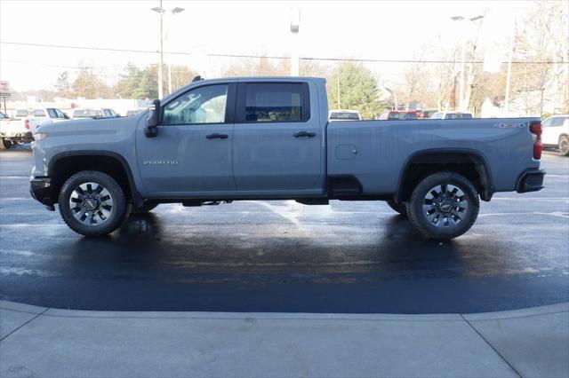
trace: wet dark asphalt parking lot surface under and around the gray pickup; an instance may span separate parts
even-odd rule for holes
[[[84,238],[31,199],[27,150],[0,153],[0,299],[76,310],[471,313],[569,301],[569,158],[546,188],[482,202],[425,240],[383,202],[161,205]]]

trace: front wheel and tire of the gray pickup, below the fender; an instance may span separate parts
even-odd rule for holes
[[[89,185],[87,183],[99,186],[93,187],[94,185]],[[87,185],[89,188],[88,191],[84,190],[85,195],[82,197],[83,202],[79,201],[76,197],[77,193],[81,192],[79,191],[80,185]],[[96,195],[98,195],[97,192],[101,186],[103,191],[99,193],[101,196],[99,200],[109,201],[106,199],[108,193],[110,201],[112,202],[112,206],[110,206],[109,210],[102,209],[104,206],[101,206],[108,202],[97,201],[99,205],[94,206],[93,203],[95,203],[95,201],[86,200],[89,194],[92,194],[94,200],[97,200]],[[75,197],[72,199],[72,196]],[[89,198],[91,198],[91,196],[89,196]],[[77,203],[77,207],[71,209],[70,201]],[[87,205],[85,205],[85,201],[89,201],[88,206],[92,207],[91,211],[85,212],[85,209],[88,209]],[[83,210],[79,209],[79,206],[83,206],[82,203],[84,204],[84,208],[82,208]],[[85,236],[100,236],[114,232],[124,224],[124,221],[131,210],[131,204],[126,200],[121,186],[116,183],[114,178],[97,170],[84,170],[69,177],[65,184],[61,186],[59,207],[61,217],[65,223],[68,224],[69,228]],[[103,219],[103,213],[98,210],[104,212],[108,211],[107,217],[104,217]],[[81,215],[82,212],[83,215],[85,215],[83,221],[81,220],[81,218],[83,218]],[[87,219],[89,218],[89,216],[87,216],[88,214],[91,214],[91,224],[84,223],[89,222]],[[92,223],[93,218],[95,218],[94,221],[96,222],[94,224]]]

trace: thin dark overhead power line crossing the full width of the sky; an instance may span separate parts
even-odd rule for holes
[[[92,50],[92,51],[113,51],[113,52],[136,52],[144,54],[156,54],[158,51],[150,50],[134,50],[134,49],[117,49],[112,47],[94,47],[94,46],[76,46],[68,44],[47,44],[47,43],[24,43],[24,42],[6,42],[0,41],[3,44],[12,44],[18,46],[34,46],[34,47],[52,47],[56,49],[76,49],[76,50]],[[193,52],[188,51],[164,51],[164,54],[171,55],[196,55]],[[198,54],[199,55],[199,54]],[[208,53],[204,54],[208,57],[216,58],[252,58],[252,59],[291,59],[291,57],[283,57],[276,55],[252,55],[252,54],[220,54],[220,53]],[[433,64],[456,64],[457,60],[430,60],[430,59],[357,59],[357,58],[317,58],[317,57],[301,57],[301,60],[325,60],[325,61],[350,61],[350,62],[360,62],[360,63],[433,63]],[[465,63],[471,64],[482,64],[482,60],[467,60]],[[506,64],[508,62],[501,62]],[[512,61],[512,64],[567,64],[565,61]]]

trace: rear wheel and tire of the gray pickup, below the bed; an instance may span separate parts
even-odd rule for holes
[[[408,204],[409,218],[419,232],[429,239],[441,240],[469,231],[479,209],[474,185],[454,172],[438,172],[424,178],[413,190]]]

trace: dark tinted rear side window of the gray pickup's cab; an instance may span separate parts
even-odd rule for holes
[[[307,83],[246,83],[240,96],[239,122],[305,122],[310,118]]]

